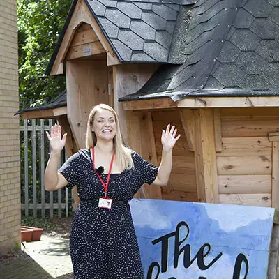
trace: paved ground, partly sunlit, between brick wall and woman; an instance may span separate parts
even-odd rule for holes
[[[0,263],[0,279],[73,279],[68,239],[43,235],[24,245],[24,257]]]

